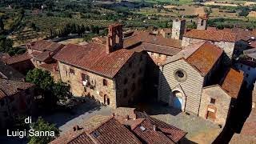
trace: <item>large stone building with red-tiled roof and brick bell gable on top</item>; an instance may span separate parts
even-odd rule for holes
[[[111,107],[135,102],[143,89],[146,55],[123,48],[122,25],[109,27],[106,44],[69,44],[54,56],[63,82],[75,96],[90,96]]]

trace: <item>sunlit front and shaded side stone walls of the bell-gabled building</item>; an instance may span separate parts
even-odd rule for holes
[[[70,83],[71,92],[74,96],[90,96],[106,105],[107,102],[104,98],[110,98],[110,106],[116,108],[132,104],[139,96],[142,90],[146,58],[145,55],[141,57],[141,53],[135,53],[114,78],[106,78],[103,75],[82,70],[63,62],[58,62],[58,66],[62,81]],[[74,70],[74,74],[70,73],[70,69]],[[83,85],[82,74],[89,76],[90,86]],[[106,80],[107,86],[103,86],[103,79]],[[125,80],[127,82],[124,82]],[[124,93],[127,93],[126,96]]]

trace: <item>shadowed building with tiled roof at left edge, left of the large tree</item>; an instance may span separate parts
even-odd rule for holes
[[[19,114],[30,114],[34,101],[34,84],[0,78],[0,127]]]

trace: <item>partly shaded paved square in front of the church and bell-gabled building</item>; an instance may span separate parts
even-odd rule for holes
[[[186,143],[211,143],[222,131],[222,129],[213,122],[206,121],[194,114],[187,114],[159,104],[139,104],[137,110],[145,111],[154,118],[158,118],[170,125],[177,126],[186,131]],[[110,115],[113,109],[108,106],[102,106],[94,100],[86,99],[72,110],[72,113],[58,112],[50,114],[44,118],[58,126],[62,130],[61,135],[67,130],[72,130],[73,126],[78,125],[88,118],[96,115]]]

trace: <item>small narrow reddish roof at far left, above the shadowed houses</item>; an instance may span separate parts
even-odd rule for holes
[[[31,58],[30,55],[25,53],[25,54],[14,55],[13,57],[10,57],[10,58],[4,58],[2,61],[6,62],[7,65],[11,65],[17,62],[30,60],[30,58]]]

